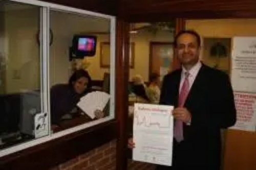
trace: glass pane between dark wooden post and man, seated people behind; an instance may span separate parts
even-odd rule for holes
[[[128,133],[133,136],[134,103],[158,104],[161,81],[173,69],[174,20],[130,25],[131,49],[134,45],[134,67],[130,66]],[[127,157],[130,169],[140,163]],[[148,165],[154,169],[155,165]]]

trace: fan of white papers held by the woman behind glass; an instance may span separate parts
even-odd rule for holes
[[[83,96],[77,106],[92,119],[96,110],[102,111],[110,99],[110,94],[102,91],[94,91]]]

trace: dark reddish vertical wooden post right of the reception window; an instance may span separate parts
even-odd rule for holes
[[[117,18],[116,27],[116,117],[118,141],[116,169],[127,169],[128,81],[129,81],[130,23]]]

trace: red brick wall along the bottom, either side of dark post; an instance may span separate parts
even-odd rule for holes
[[[129,160],[129,170],[154,170],[155,165]],[[48,170],[116,170],[116,140]],[[117,169],[121,170],[121,169]]]

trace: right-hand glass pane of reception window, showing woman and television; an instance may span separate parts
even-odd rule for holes
[[[98,92],[110,93],[110,19],[51,11],[50,28],[53,132],[107,116],[109,100]]]

